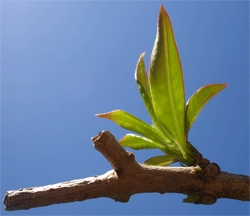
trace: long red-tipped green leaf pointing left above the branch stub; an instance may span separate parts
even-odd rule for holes
[[[134,131],[152,141],[159,142],[160,144],[165,143],[165,137],[163,137],[159,131],[148,125],[146,122],[123,110],[114,110],[112,112],[96,114],[96,116],[109,119],[124,129]]]

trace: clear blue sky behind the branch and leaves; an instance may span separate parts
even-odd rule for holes
[[[158,1],[1,2],[1,197],[7,190],[100,175],[111,169],[90,140],[127,131],[96,118],[126,110],[150,123],[134,81],[156,35]],[[190,142],[223,171],[249,175],[249,3],[164,1],[180,52],[186,100],[229,86],[204,108]],[[131,151],[131,150],[130,150]],[[138,162],[158,151],[133,151]],[[176,164],[178,165],[178,164]],[[182,194],[139,194],[1,215],[248,214],[249,202],[184,204]]]

